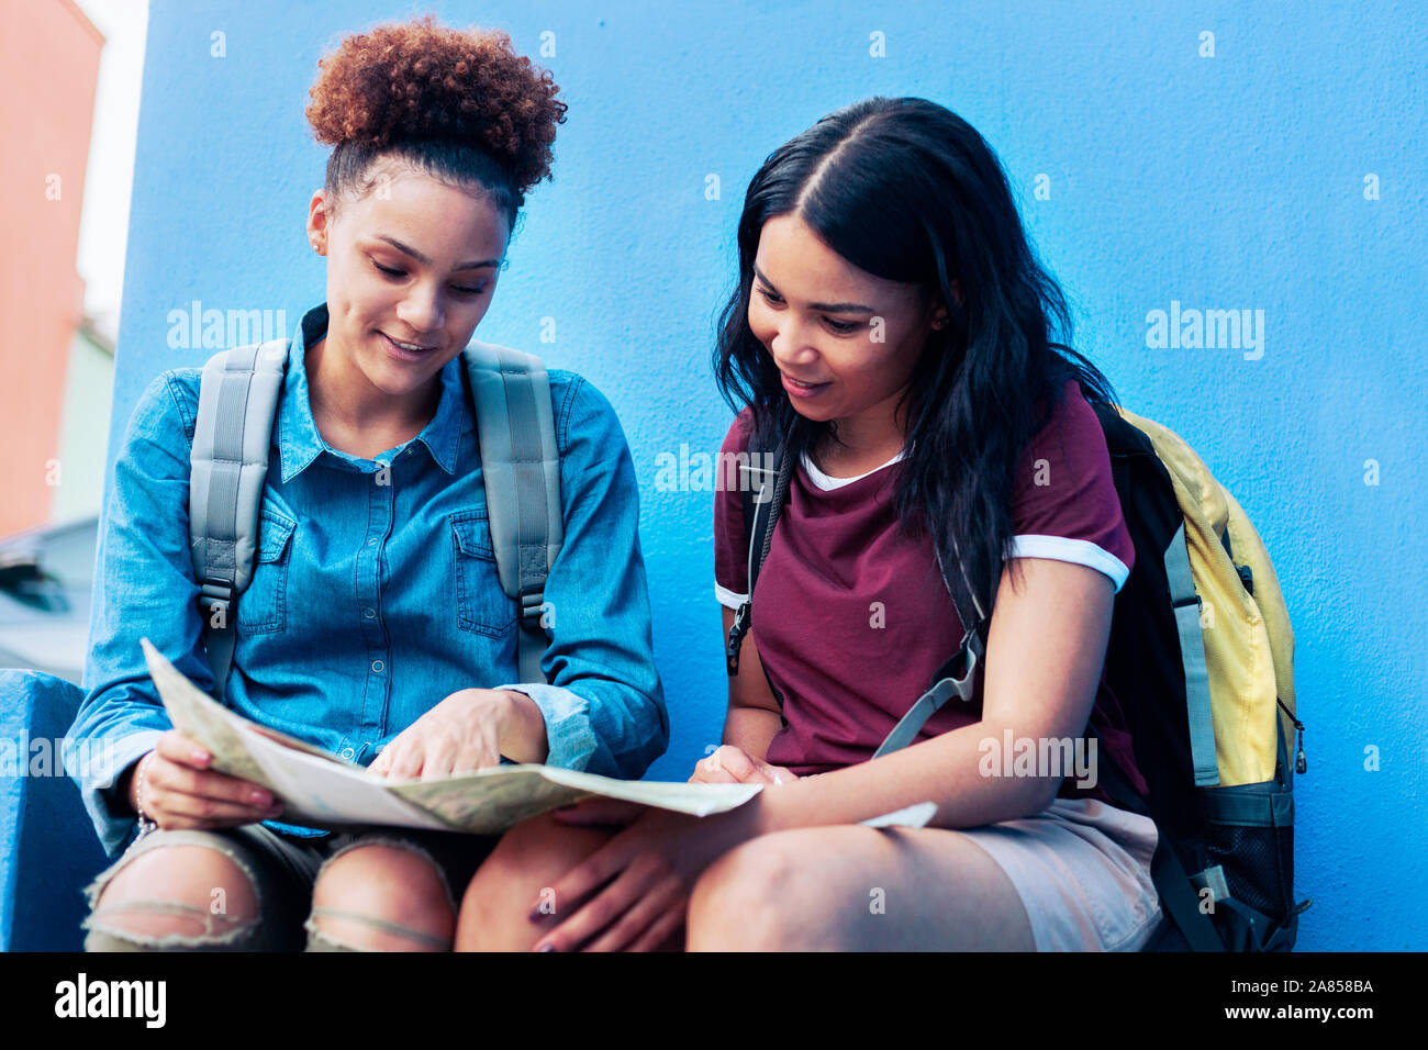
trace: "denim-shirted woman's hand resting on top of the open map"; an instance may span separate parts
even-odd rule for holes
[[[508,690],[458,690],[393,737],[367,769],[393,780],[436,780],[500,766],[514,703]]]

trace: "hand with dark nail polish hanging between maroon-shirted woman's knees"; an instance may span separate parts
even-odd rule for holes
[[[611,807],[610,801],[591,799],[557,811],[563,824],[623,823],[625,827],[550,887],[557,914],[565,917],[536,941],[537,951],[650,951],[658,947],[684,924],[690,894],[704,870],[757,834],[753,829],[757,799],[708,817],[630,803]],[[644,811],[635,814],[640,809]],[[598,893],[585,900],[595,890]],[[531,921],[547,916],[547,901],[548,896],[543,896],[531,903]],[[564,901],[580,903],[571,911]]]

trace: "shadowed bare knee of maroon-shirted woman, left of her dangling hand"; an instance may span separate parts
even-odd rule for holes
[[[458,951],[524,951],[560,921],[554,884],[610,841],[610,830],[574,827],[551,814],[521,821],[477,870],[461,901]],[[536,921],[531,910],[537,909]]]

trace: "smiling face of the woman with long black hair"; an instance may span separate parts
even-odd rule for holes
[[[807,419],[840,437],[884,440],[934,323],[921,289],[860,270],[797,214],[764,223],[754,259],[748,327]]]

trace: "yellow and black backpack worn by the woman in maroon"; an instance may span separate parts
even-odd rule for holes
[[[1240,503],[1180,436],[1092,407],[1135,543],[1107,683],[1150,796],[1117,770],[1104,783],[1155,820],[1155,884],[1191,949],[1288,951],[1309,906],[1294,900],[1294,774],[1307,764],[1279,580]],[[1174,933],[1150,950],[1184,947]]]

